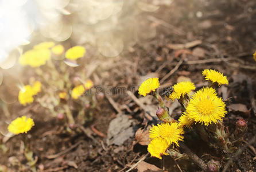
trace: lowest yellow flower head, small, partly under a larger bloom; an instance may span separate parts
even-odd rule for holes
[[[162,159],[162,155],[168,155],[166,153],[168,147],[169,145],[165,139],[156,138],[150,141],[148,145],[148,151],[151,157]]]

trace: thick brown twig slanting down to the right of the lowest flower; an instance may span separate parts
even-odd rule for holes
[[[206,171],[206,164],[204,161],[199,158],[195,153],[193,153],[184,143],[180,143],[180,147],[184,150],[184,153],[188,155],[188,157],[195,162],[202,170]]]

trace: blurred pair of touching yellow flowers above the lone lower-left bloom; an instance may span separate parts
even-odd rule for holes
[[[25,85],[21,88],[18,100],[22,105],[30,104],[34,101],[33,96],[37,95],[38,92],[41,92],[41,83],[36,81],[33,86]]]

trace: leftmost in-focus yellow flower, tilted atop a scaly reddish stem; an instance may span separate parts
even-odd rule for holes
[[[160,87],[160,83],[158,78],[149,78],[139,86],[139,94],[142,96],[148,95],[148,93],[152,91],[156,91],[156,89]]]

